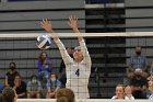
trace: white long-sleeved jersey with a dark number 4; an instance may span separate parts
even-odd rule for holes
[[[59,47],[60,54],[66,65],[66,72],[67,72],[66,87],[73,90],[76,99],[90,98],[87,84],[91,75],[92,64],[84,41],[82,39],[80,42],[81,52],[83,53],[83,57],[84,57],[81,63],[75,63],[73,58],[69,56],[69,54],[66,50],[66,47],[60,42],[60,39],[55,42]]]

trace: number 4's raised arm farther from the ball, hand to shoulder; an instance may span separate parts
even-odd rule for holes
[[[89,67],[91,67],[91,57],[90,57],[89,50],[86,48],[86,44],[85,44],[84,38],[83,38],[83,36],[81,35],[81,33],[79,32],[79,29],[78,29],[78,18],[70,16],[68,24],[72,27],[74,34],[78,36],[78,39],[79,39],[79,43],[80,43],[80,46],[81,46],[81,52],[83,53],[83,57],[84,57],[83,61]]]

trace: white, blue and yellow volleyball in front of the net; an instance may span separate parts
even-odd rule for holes
[[[48,49],[51,45],[51,39],[47,34],[42,34],[37,37],[37,47],[40,49]]]

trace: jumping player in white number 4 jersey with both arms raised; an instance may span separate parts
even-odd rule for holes
[[[66,65],[67,72],[66,87],[74,91],[76,99],[90,98],[87,84],[92,63],[83,36],[80,34],[78,30],[78,18],[75,16],[69,18],[69,25],[72,27],[80,43],[80,46],[74,48],[73,58],[71,58],[67,53],[64,45],[59,39],[59,36],[54,33],[51,23],[47,19],[45,19],[43,20],[40,25],[48,33],[50,33],[55,43],[59,47],[60,54]]]

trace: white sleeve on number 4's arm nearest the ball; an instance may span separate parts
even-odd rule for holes
[[[58,46],[58,48],[60,50],[61,57],[62,57],[62,59],[64,61],[64,65],[70,64],[72,61],[72,58],[70,57],[70,55],[66,50],[66,47],[63,46],[61,41],[57,39],[57,41],[55,41],[55,43],[57,44],[57,46]]]

